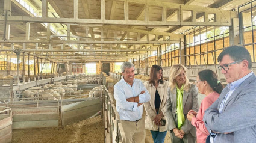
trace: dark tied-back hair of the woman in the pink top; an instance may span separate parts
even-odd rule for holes
[[[211,88],[213,88],[213,90],[217,93],[220,94],[223,90],[224,86],[220,83],[220,81],[218,81],[217,75],[214,73],[214,71],[202,70],[199,71],[198,76],[201,81],[207,81]]]

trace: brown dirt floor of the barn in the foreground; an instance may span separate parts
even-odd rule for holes
[[[104,124],[101,116],[89,118],[64,126],[13,130],[13,143],[58,143],[58,142],[104,142]],[[149,130],[146,130],[146,143],[153,143]],[[164,142],[170,143],[167,132]]]

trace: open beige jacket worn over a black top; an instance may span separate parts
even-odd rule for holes
[[[146,117],[145,117],[145,128],[149,130],[154,130],[154,131],[159,131],[163,132],[167,130],[167,118],[166,118],[166,101],[167,101],[167,89],[169,87],[169,82],[168,81],[163,81],[163,84],[159,84],[157,87],[157,91],[159,93],[161,103],[159,107],[159,112],[162,112],[164,117],[162,118],[163,120],[166,120],[166,125],[165,126],[157,126],[154,123],[154,118],[157,115],[157,111],[155,111],[155,91],[156,88],[154,85],[149,84],[149,81],[144,82],[144,85],[146,89],[148,90],[150,94],[150,101],[144,103],[144,108],[146,110]]]

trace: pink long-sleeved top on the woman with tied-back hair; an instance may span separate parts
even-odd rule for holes
[[[216,92],[210,93],[208,96],[206,96],[202,100],[198,114],[191,120],[191,124],[196,127],[196,137],[198,143],[205,143],[205,140],[209,135],[207,128],[204,126],[204,121],[202,121],[202,118],[204,117],[204,111],[209,108],[211,104],[213,104],[213,102],[215,102],[215,100],[218,98],[219,93]]]

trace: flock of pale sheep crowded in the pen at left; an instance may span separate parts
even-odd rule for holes
[[[96,82],[99,83],[99,79],[73,79],[54,82],[54,84],[45,84],[40,87],[31,87],[18,94],[20,95],[19,98],[22,98],[22,100],[60,100],[65,99],[67,96],[85,95],[86,91],[81,88],[83,88],[85,84],[95,84]],[[102,92],[101,88],[102,86],[93,88],[89,92],[89,97],[99,97]]]

